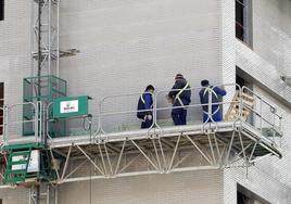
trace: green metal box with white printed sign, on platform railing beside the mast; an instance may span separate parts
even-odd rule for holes
[[[53,118],[81,117],[88,115],[88,95],[64,97],[53,100]]]

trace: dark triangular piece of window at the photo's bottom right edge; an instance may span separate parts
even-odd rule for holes
[[[237,189],[237,204],[270,204],[240,184],[238,184]]]

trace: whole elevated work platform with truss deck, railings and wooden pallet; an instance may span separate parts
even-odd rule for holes
[[[50,137],[49,128],[46,128],[49,127],[49,123],[58,124],[62,118],[46,118],[38,114],[31,123],[43,124],[43,127],[36,129],[35,136],[14,137],[14,139],[4,137],[3,144],[10,146],[45,141],[48,146],[48,157],[52,161],[51,169],[55,173],[50,182],[54,183],[236,166],[246,167],[265,156],[282,157],[278,145],[282,137],[281,116],[277,113],[276,106],[248,88],[233,91],[235,97],[230,98],[230,101],[219,102],[219,105],[227,109],[223,122],[189,123],[186,126],[165,125],[163,117],[159,118],[159,116],[163,115],[162,111],[172,111],[173,107],[160,107],[159,98],[164,98],[164,95],[155,93],[154,105],[151,110],[154,116],[152,127],[130,129],[123,124],[123,129],[107,130],[106,127],[124,120],[124,116],[128,113],[136,115],[136,110],[114,112],[112,107],[110,111],[105,109],[110,99],[118,101],[116,97],[129,99],[129,95],[136,98],[138,94],[105,97],[101,101],[97,117],[84,115],[79,118],[80,125],[63,118],[67,119],[66,131],[68,133],[65,137]],[[213,104],[210,102],[207,105]],[[37,110],[40,109],[39,113],[42,113],[41,109],[49,110],[51,105],[46,107],[41,102],[37,102],[35,106]],[[195,113],[192,109],[201,110],[201,104],[188,106],[189,112]],[[12,109],[8,109],[9,111]],[[109,120],[105,119],[106,117]],[[129,122],[128,118],[127,116],[125,122]],[[25,123],[28,122],[25,120]],[[7,122],[7,126],[13,126],[13,122]],[[72,129],[77,126],[83,127],[84,131],[73,135]],[[4,132],[9,135],[8,130]]]

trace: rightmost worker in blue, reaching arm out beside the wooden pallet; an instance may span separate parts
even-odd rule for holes
[[[222,122],[223,120],[223,110],[222,105],[217,104],[222,102],[222,97],[226,95],[226,90],[216,86],[210,86],[210,81],[204,79],[201,81],[201,86],[203,87],[200,92],[200,102],[202,104],[203,110],[203,123],[207,122]],[[212,93],[212,113],[208,113],[208,98],[210,93]]]

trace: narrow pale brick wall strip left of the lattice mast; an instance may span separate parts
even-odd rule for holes
[[[4,21],[0,22],[0,81],[4,82],[5,103],[23,101],[22,81],[30,75],[30,3],[26,1],[5,1]],[[15,107],[11,118],[22,119],[22,107]],[[11,127],[20,132],[21,125]]]

